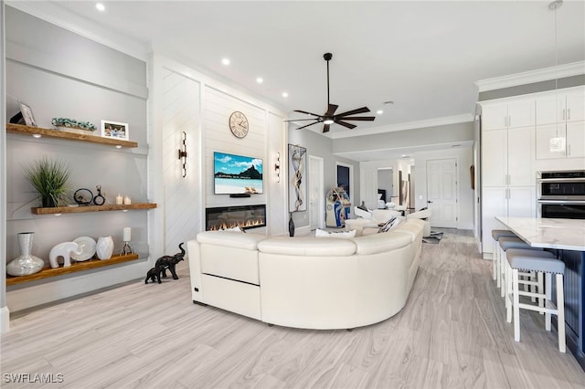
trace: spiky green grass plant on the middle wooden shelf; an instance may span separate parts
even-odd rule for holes
[[[43,206],[58,206],[69,190],[69,167],[62,161],[43,156],[25,167],[27,180],[37,189]]]

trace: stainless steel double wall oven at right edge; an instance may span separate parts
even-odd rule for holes
[[[585,170],[537,173],[539,217],[585,219]]]

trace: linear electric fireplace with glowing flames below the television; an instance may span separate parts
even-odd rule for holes
[[[266,226],[266,205],[219,206],[206,208],[206,230],[240,226],[243,229]]]

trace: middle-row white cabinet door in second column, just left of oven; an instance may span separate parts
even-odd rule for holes
[[[532,169],[534,132],[534,126],[508,129],[508,185],[534,185],[536,182]]]

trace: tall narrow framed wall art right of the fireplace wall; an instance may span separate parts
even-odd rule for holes
[[[289,144],[289,211],[307,210],[307,149]]]

